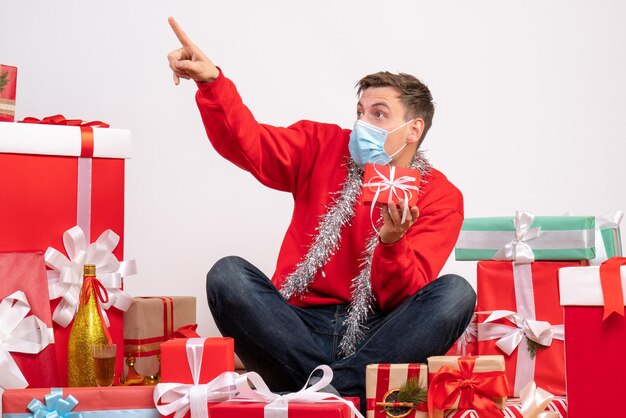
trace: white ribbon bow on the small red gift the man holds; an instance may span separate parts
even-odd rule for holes
[[[372,207],[370,209],[370,219],[372,221],[372,226],[374,227],[374,230],[376,232],[378,232],[378,230],[376,229],[376,226],[374,225],[374,206],[376,206],[376,202],[378,201],[378,196],[380,196],[382,192],[389,190],[389,198],[387,199],[387,204],[393,203],[394,196],[396,197],[398,201],[404,199],[405,205],[404,205],[404,210],[402,211],[402,222],[401,222],[401,223],[404,223],[406,221],[406,217],[409,214],[409,201],[413,197],[413,192],[411,192],[411,190],[415,190],[415,192],[419,191],[419,188],[416,185],[416,182],[417,182],[416,177],[401,176],[401,177],[395,178],[396,167],[395,166],[388,166],[388,167],[389,167],[389,178],[387,178],[383,173],[378,171],[378,168],[376,168],[376,164],[372,164],[372,168],[374,169],[374,171],[376,171],[378,175],[370,178],[370,180],[363,185],[363,187],[368,187],[371,191],[374,191],[374,188],[376,188],[376,190],[374,191],[374,198],[372,199]],[[400,195],[400,192],[402,192],[402,196]]]

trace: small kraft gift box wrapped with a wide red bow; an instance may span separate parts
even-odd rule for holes
[[[456,409],[476,409],[484,418],[501,417],[508,391],[502,356],[428,358],[430,417],[440,418]]]

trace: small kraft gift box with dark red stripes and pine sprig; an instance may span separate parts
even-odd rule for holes
[[[419,363],[369,364],[365,372],[367,418],[387,418],[383,406],[377,406],[376,403],[392,402],[386,400],[385,395],[390,391],[399,389],[409,379],[417,380],[419,386],[424,388],[426,392],[428,390],[428,366]],[[418,405],[415,409],[411,409],[405,416],[427,418],[428,407],[426,402]]]

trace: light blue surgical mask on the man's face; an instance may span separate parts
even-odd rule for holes
[[[386,131],[383,128],[379,128],[378,126],[374,126],[362,120],[357,120],[354,123],[354,129],[350,133],[350,142],[348,143],[352,159],[361,168],[363,168],[366,163],[389,164],[393,160],[393,157],[398,155],[408,143],[405,142],[400,149],[389,155],[385,151],[385,141],[387,137],[389,134],[405,127],[414,120],[415,119],[411,119],[391,131]]]

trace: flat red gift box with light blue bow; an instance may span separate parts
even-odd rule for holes
[[[2,396],[3,418],[161,418],[153,386],[13,389]]]

